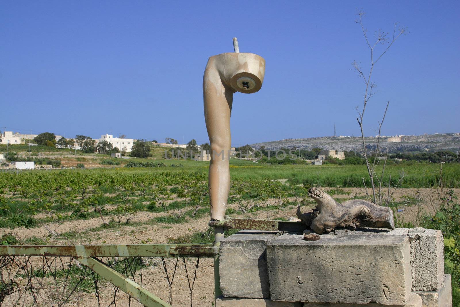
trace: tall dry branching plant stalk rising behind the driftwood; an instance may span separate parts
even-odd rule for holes
[[[382,180],[385,174],[385,166],[386,166],[386,158],[388,157],[388,149],[386,150],[385,156],[383,156],[382,160],[383,166],[382,166],[382,171],[381,174],[377,174],[377,165],[380,162],[380,157],[384,153],[380,149],[380,133],[382,129],[383,122],[385,120],[386,112],[388,110],[388,106],[390,104],[390,101],[387,102],[385,112],[383,114],[382,120],[379,122],[379,128],[378,128],[378,136],[377,136],[377,145],[374,150],[374,152],[368,153],[367,147],[366,147],[366,141],[364,138],[364,127],[363,127],[363,121],[364,121],[364,114],[366,111],[366,107],[368,104],[369,99],[374,96],[377,92],[373,93],[374,88],[376,87],[375,83],[372,81],[372,72],[374,70],[374,65],[380,60],[380,58],[383,57],[383,55],[390,49],[390,47],[393,45],[393,43],[397,40],[397,38],[400,35],[408,33],[407,29],[405,27],[399,27],[397,29],[397,23],[394,25],[393,33],[392,35],[389,35],[388,32],[384,32],[379,29],[379,31],[375,31],[374,37],[375,37],[375,42],[371,44],[368,39],[368,30],[364,28],[364,24],[362,23],[362,18],[365,16],[365,13],[362,11],[359,11],[357,13],[357,20],[355,21],[357,24],[361,26],[362,33],[364,35],[364,39],[367,43],[367,46],[369,47],[369,52],[370,52],[370,62],[369,62],[369,72],[364,73],[364,70],[361,68],[361,65],[357,62],[354,61],[352,63],[355,71],[358,73],[359,77],[364,80],[364,84],[366,85],[365,91],[364,91],[364,97],[363,97],[363,106],[362,110],[358,110],[358,106],[355,108],[358,112],[358,117],[357,117],[357,122],[359,124],[359,127],[361,129],[361,140],[362,140],[362,151],[361,154],[364,157],[364,161],[366,163],[366,167],[368,170],[368,175],[371,183],[371,189],[372,189],[372,200],[374,203],[379,203],[382,205],[382,202],[384,202],[386,205],[388,205],[389,202],[389,197],[390,197],[390,190],[391,190],[391,177],[390,180],[387,184],[388,190],[387,190],[387,195],[382,199],[384,196],[384,191],[382,191],[382,185],[385,185]],[[377,53],[376,54],[376,46],[378,45],[387,45],[386,48],[383,50],[383,52]],[[380,172],[379,172],[380,173]],[[397,187],[397,185],[394,185]],[[366,193],[367,188],[366,188]],[[368,194],[369,195],[369,194]],[[370,197],[370,195],[369,195]],[[386,198],[386,199],[385,199]]]

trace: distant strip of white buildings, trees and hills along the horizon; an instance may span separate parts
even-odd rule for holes
[[[365,144],[375,159],[391,159],[393,162],[414,160],[417,162],[439,162],[460,160],[460,133],[436,133],[424,135],[397,135],[366,137]],[[51,169],[62,167],[85,167],[78,161],[67,161],[67,155],[79,154],[110,156],[114,159],[153,158],[191,159],[194,161],[210,161],[211,146],[209,143],[198,145],[195,139],[187,144],[178,144],[173,138],[165,142],[157,140],[131,139],[125,135],[114,137],[103,134],[99,139],[85,135],[65,138],[54,133],[27,134],[3,131],[0,134],[1,169]],[[33,148],[39,146],[37,151]],[[38,147],[37,147],[38,148]],[[61,156],[49,151],[58,151]],[[279,141],[256,143],[241,147],[232,147],[228,153],[231,158],[261,163],[278,164],[362,164],[362,139],[352,136],[318,137],[309,139],[283,139]],[[119,165],[120,162],[105,159],[87,163],[86,167],[100,165]],[[100,158],[99,158],[100,160]],[[101,164],[102,163],[102,164]]]

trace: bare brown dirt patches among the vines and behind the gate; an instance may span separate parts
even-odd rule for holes
[[[325,188],[325,191],[330,191],[331,188]],[[343,188],[340,189],[341,194],[334,194],[333,197],[338,199],[339,202],[350,199],[355,196],[360,197],[365,195],[365,192],[357,188]],[[454,189],[456,195],[460,194],[460,189]],[[401,211],[396,214],[395,218],[398,220],[414,221],[420,210],[431,211],[435,210],[438,206],[435,197],[436,191],[430,189],[399,189],[394,192],[393,198],[403,203],[407,201],[410,205],[401,205],[398,207]],[[294,198],[290,199],[293,201]],[[277,199],[271,199],[266,203],[276,203]],[[298,199],[301,201],[301,199]],[[307,209],[313,208],[315,204],[307,201],[302,207],[305,212]],[[229,208],[237,210],[237,204],[230,204]],[[277,210],[259,210],[253,213],[237,214],[236,217],[250,217],[257,219],[276,219],[288,218],[295,216],[296,207],[290,206]],[[57,232],[62,234],[64,232],[73,231],[76,233],[72,239],[63,239],[58,236],[52,237],[50,232],[46,230],[44,225],[35,228],[26,229],[24,227],[8,229],[0,229],[2,233],[14,233],[18,237],[24,239],[27,237],[40,237],[49,240],[50,244],[63,245],[63,244],[134,244],[134,243],[168,243],[168,239],[176,238],[184,235],[191,235],[194,232],[204,232],[207,230],[209,216],[200,219],[187,220],[182,224],[153,224],[146,223],[152,218],[166,215],[166,213],[151,213],[151,212],[137,212],[134,214],[131,224],[136,223],[138,226],[121,225],[118,229],[102,229],[99,231],[88,232],[88,229],[101,226],[103,221],[100,218],[93,218],[90,220],[71,220],[61,224],[47,225]],[[185,260],[189,273],[190,281],[193,280],[196,258],[189,258]],[[169,287],[161,262],[161,258],[145,259],[149,266],[143,269],[142,284],[152,293],[161,299],[169,300]],[[168,274],[172,278],[176,259],[166,259]],[[213,259],[202,258],[200,265],[197,269],[196,281],[193,288],[193,306],[212,306],[213,302]],[[175,307],[189,307],[190,306],[190,290],[189,284],[184,269],[184,261],[178,260],[178,267],[172,285],[173,301],[172,305]],[[113,286],[105,284],[101,287],[101,306],[109,306],[110,302],[114,299]],[[8,305],[8,300],[2,306],[12,306],[11,302]],[[46,306],[46,305],[41,305]],[[56,305],[57,306],[57,305]],[[66,306],[98,306],[97,299],[94,293],[80,292],[73,295],[73,301]],[[113,306],[113,305],[112,305]],[[121,291],[118,291],[116,296],[116,306],[128,306],[128,296]],[[142,306],[138,302],[132,300],[131,306]]]

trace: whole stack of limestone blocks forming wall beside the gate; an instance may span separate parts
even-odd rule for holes
[[[216,307],[451,307],[443,238],[415,228],[299,234],[242,231],[220,247]]]

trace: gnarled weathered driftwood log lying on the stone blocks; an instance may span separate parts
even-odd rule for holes
[[[316,233],[329,233],[336,227],[352,230],[357,227],[395,229],[391,208],[362,199],[337,203],[328,193],[316,187],[308,189],[308,196],[318,205],[307,213],[301,213],[300,206],[297,207],[297,216]]]

